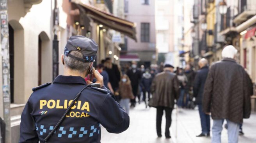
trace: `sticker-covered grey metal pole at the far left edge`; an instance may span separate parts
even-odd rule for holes
[[[2,44],[2,80],[3,80],[3,107],[4,122],[6,124],[5,143],[11,143],[10,117],[10,64],[9,64],[9,30],[7,0],[0,0],[1,44]]]

